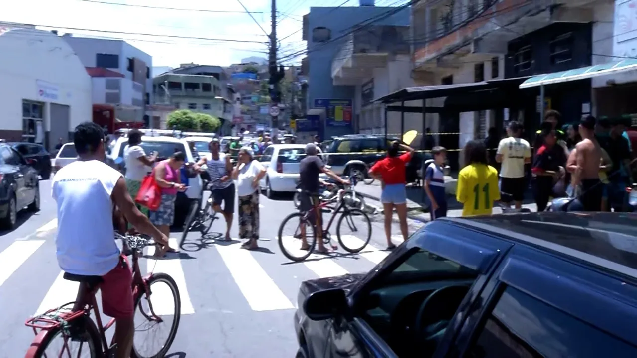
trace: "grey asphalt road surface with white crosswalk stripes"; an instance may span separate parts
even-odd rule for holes
[[[50,181],[40,185],[41,211],[23,213],[17,229],[0,233],[0,358],[24,356],[33,338],[31,329],[24,326],[28,317],[75,299],[77,284],[62,279],[55,259],[57,221]],[[292,318],[301,282],[368,272],[389,254],[383,250],[382,218],[373,217],[370,244],[359,254],[343,255],[341,249],[290,263],[275,238],[282,218],[293,210],[289,199],[261,196],[259,251],[241,249],[236,239],[231,243],[211,240],[224,233],[221,219],[205,240],[190,233],[180,253],[157,261],[140,260],[142,270],[168,273],[180,290],[180,325],[166,357],[292,357],[298,347]],[[420,226],[410,222],[410,231]],[[399,233],[397,226],[393,231]],[[231,233],[233,238],[238,236],[236,222]],[[90,240],[90,233],[86,234]],[[171,234],[173,245],[180,236]],[[154,292],[155,311],[172,311],[169,296],[162,295],[165,291]],[[166,319],[171,322],[171,317]],[[161,337],[148,341],[157,338]]]

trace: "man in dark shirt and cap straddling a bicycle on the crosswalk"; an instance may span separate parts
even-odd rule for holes
[[[320,208],[318,208],[318,204],[320,203],[318,199],[318,187],[320,186],[318,176],[320,173],[325,173],[343,185],[349,185],[350,182],[334,174],[330,169],[327,169],[323,161],[317,156],[317,153],[317,146],[314,143],[308,143],[308,145],[305,146],[305,157],[299,162],[299,180],[301,182],[301,190],[303,190],[299,197],[299,210],[311,211],[310,220],[316,222],[317,230],[318,248],[316,252],[326,254],[328,251],[325,245],[323,245],[323,220]],[[312,210],[312,208],[314,210]],[[305,226],[303,225],[301,225],[301,241],[303,242],[301,244],[301,250],[308,250],[310,245],[308,245]]]

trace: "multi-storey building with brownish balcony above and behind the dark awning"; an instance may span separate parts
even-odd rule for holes
[[[417,85],[455,85],[548,73],[590,62],[590,22],[594,1],[466,0],[422,1],[412,9],[413,78]],[[587,35],[588,34],[588,35]],[[588,38],[587,38],[588,36]],[[570,45],[569,45],[570,44]],[[568,47],[571,46],[571,47]],[[590,87],[588,87],[590,88]],[[524,122],[527,131],[540,123],[538,89],[520,92],[526,104],[520,112],[494,108],[453,115],[427,115],[427,126],[438,143],[461,148],[484,138],[489,127],[503,131],[503,122]],[[576,117],[578,102],[589,101],[585,91],[557,99],[555,107]],[[550,103],[550,96],[547,96]],[[428,105],[445,99],[429,99]],[[590,102],[590,101],[589,101]],[[559,104],[558,104],[559,103]],[[582,104],[579,104],[582,108]],[[577,117],[578,118],[578,117]]]

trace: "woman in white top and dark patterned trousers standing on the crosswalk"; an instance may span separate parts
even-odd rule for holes
[[[266,175],[266,168],[254,159],[250,147],[241,147],[233,179],[237,182],[239,196],[239,238],[247,239],[242,247],[259,248],[259,180]]]

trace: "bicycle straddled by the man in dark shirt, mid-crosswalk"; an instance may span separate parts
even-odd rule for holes
[[[304,192],[304,194],[318,197],[320,203],[306,212],[301,211],[298,213],[291,213],[287,217],[283,218],[278,230],[278,244],[285,257],[292,261],[303,261],[312,254],[317,243],[316,223],[314,222],[313,217],[321,215],[324,211],[331,211],[333,213],[327,223],[327,228],[322,230],[322,240],[325,244],[329,244],[331,242],[332,237],[329,233],[329,229],[331,228],[336,216],[340,214],[338,222],[336,223],[336,238],[341,246],[351,254],[360,252],[367,246],[371,239],[371,220],[369,220],[368,215],[364,211],[357,208],[350,208],[345,203],[345,199],[340,199],[339,196],[334,196],[331,199],[324,200],[315,193]],[[335,206],[331,206],[333,203],[337,204]],[[285,228],[285,224],[288,222],[292,222],[293,227],[294,223],[296,223],[296,227],[290,232],[290,234],[285,234],[283,229]],[[343,226],[343,224],[345,224],[345,226]],[[308,247],[306,248],[301,247],[301,239],[303,238],[303,230],[301,229],[303,227],[305,229],[304,236],[306,238],[306,243],[308,244]],[[346,229],[350,229],[352,234],[343,233]],[[364,229],[367,229],[367,233],[361,234]],[[311,233],[309,231],[311,231]],[[286,248],[286,245],[290,244],[292,247]],[[333,248],[336,249],[334,245]]]

